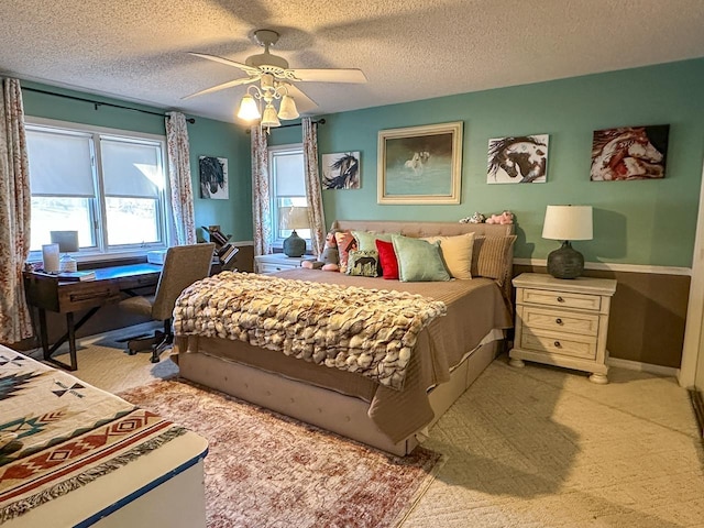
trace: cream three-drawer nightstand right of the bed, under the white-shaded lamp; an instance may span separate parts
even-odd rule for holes
[[[516,332],[509,363],[563,366],[591,372],[594,383],[608,383],[606,333],[616,280],[524,273],[513,284]]]

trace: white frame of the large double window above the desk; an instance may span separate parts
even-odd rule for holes
[[[131,256],[143,256],[147,251],[163,250],[168,248],[168,241],[170,238],[170,218],[173,215],[169,190],[169,178],[167,175],[167,151],[166,151],[166,136],[158,134],[150,134],[146,132],[136,132],[121,129],[111,129],[106,127],[95,127],[84,123],[74,123],[70,121],[61,121],[54,119],[38,118],[33,116],[25,116],[24,124],[26,129],[43,129],[52,130],[59,133],[90,135],[91,138],[91,156],[92,156],[92,172],[94,172],[94,185],[95,185],[95,200],[94,208],[94,231],[96,233],[96,248],[82,249],[78,253],[72,253],[78,262],[97,262],[102,260],[124,258]],[[103,195],[103,179],[102,179],[102,164],[101,164],[101,148],[100,139],[118,140],[125,142],[142,143],[144,141],[158,145],[158,152],[161,156],[162,173],[164,175],[164,187],[158,194],[157,198],[157,222],[158,222],[158,238],[157,242],[139,243],[139,244],[123,244],[108,246],[108,229],[107,229],[107,215],[106,215],[106,200]],[[42,260],[41,250],[30,252],[30,262],[38,262]]]

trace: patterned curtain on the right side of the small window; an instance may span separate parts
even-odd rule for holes
[[[327,229],[318,173],[318,129],[310,121],[310,118],[304,118],[301,125],[304,128],[304,163],[306,165],[306,196],[309,206],[310,245],[314,255],[320,255],[326,245]]]

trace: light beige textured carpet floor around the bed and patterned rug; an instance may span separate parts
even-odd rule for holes
[[[78,377],[111,392],[177,369],[92,345],[78,364]],[[448,461],[403,527],[704,527],[686,391],[622,369],[609,380],[496,360],[430,431],[424,446]]]

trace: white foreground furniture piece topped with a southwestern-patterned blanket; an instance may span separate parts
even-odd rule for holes
[[[0,345],[0,525],[206,526],[207,441]]]

